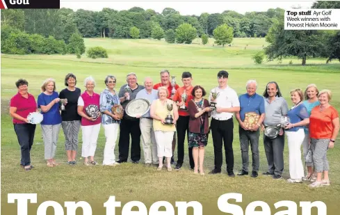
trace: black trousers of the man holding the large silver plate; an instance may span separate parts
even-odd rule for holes
[[[131,134],[131,160],[140,160],[140,127],[138,120],[128,120],[122,118],[120,121],[120,136],[119,136],[119,159],[127,161],[129,157],[129,145]]]

